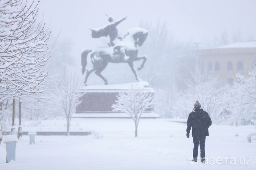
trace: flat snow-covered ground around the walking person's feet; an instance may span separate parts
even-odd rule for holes
[[[24,122],[23,131],[65,131],[65,119]],[[35,126],[37,125],[37,126]],[[35,127],[34,127],[35,126]],[[36,136],[29,145],[23,135],[16,144],[16,161],[6,163],[6,149],[0,146],[0,167],[4,170],[176,170],[223,169],[255,170],[256,143],[246,136],[256,132],[255,126],[217,126],[209,128],[206,157],[222,159],[218,164],[191,163],[192,137],[186,137],[186,124],[166,119],[141,119],[138,137],[134,137],[131,119],[73,118],[70,131],[93,131],[88,136]],[[96,138],[96,135],[103,136]],[[191,136],[191,134],[190,134]],[[200,156],[200,149],[199,155]],[[233,158],[232,158],[233,157]],[[229,158],[229,159],[228,159]],[[251,165],[237,165],[248,162]],[[227,159],[227,165],[225,160]],[[236,165],[230,165],[236,159]],[[241,161],[239,161],[239,159]],[[215,161],[216,162],[216,161]]]

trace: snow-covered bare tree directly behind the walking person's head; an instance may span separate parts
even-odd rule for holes
[[[226,105],[225,92],[227,87],[222,87],[221,79],[215,77],[211,71],[201,68],[200,62],[194,67],[191,71],[191,80],[186,82],[188,88],[184,94],[187,96],[187,101],[191,102],[192,105],[198,100],[204,110],[209,113],[209,116],[216,120]]]

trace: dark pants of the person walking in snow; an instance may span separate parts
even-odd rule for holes
[[[198,155],[198,144],[200,144],[200,151],[201,151],[201,159],[204,160],[205,158],[205,150],[204,150],[204,143],[205,143],[205,136],[201,137],[193,137],[194,149],[193,149],[193,158],[197,159]]]

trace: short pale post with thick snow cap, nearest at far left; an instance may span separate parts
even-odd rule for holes
[[[15,148],[18,142],[17,135],[6,135],[3,139],[3,143],[6,144],[6,163],[11,160],[15,161]]]

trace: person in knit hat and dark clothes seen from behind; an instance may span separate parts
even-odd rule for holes
[[[210,125],[212,125],[212,120],[209,114],[204,111],[203,108],[201,108],[201,104],[196,101],[193,111],[189,113],[189,117],[187,118],[187,138],[189,138],[189,132],[192,127],[194,143],[192,161],[194,162],[197,162],[198,144],[200,144],[201,162],[205,162],[204,144],[206,136],[209,136],[208,128]]]

